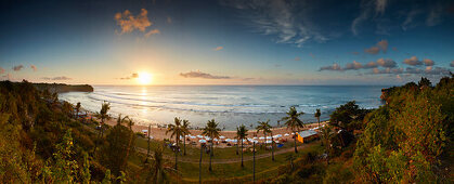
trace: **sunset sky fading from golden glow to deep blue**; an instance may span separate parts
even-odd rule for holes
[[[0,80],[402,84],[454,70],[454,1],[0,2]]]

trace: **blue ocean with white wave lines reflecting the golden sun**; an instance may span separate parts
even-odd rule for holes
[[[290,106],[303,122],[315,122],[313,114],[322,110],[321,120],[329,119],[336,107],[356,101],[362,108],[381,105],[377,86],[94,86],[94,92],[61,93],[61,100],[80,102],[82,108],[99,111],[103,101],[111,103],[109,115],[131,117],[138,124],[172,123],[174,117],[190,120],[202,128],[215,119],[224,130],[238,124],[256,127],[257,121],[278,120]]]

